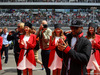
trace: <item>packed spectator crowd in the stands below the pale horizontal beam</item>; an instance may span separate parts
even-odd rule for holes
[[[61,9],[62,10],[62,9]],[[9,10],[10,11],[10,10]],[[90,22],[99,23],[100,13],[91,12],[63,12],[63,11],[15,11],[1,12],[0,14],[0,26],[16,26],[18,22],[32,23],[34,26],[39,26],[41,20],[47,20],[49,26],[53,26],[56,23],[61,23],[62,26],[70,26],[73,19],[80,19],[84,26],[87,26]]]

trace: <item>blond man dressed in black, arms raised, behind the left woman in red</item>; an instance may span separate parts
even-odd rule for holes
[[[18,28],[18,32],[10,31],[9,35],[7,36],[8,41],[10,40],[14,41],[14,56],[15,56],[16,65],[17,65],[19,53],[20,53],[18,40],[19,40],[20,35],[23,34],[24,23],[18,23],[17,28]],[[21,75],[21,70],[17,69],[17,75]]]

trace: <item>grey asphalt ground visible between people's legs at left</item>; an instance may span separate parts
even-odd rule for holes
[[[5,64],[4,60],[2,59],[2,70],[0,70],[0,75],[17,75],[16,64],[14,59],[13,49],[8,51],[8,63]],[[41,50],[38,52],[39,59],[41,60]],[[37,63],[36,68],[33,70],[33,75],[46,75],[45,70],[42,70],[40,64]]]

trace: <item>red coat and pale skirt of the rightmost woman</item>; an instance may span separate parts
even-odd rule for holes
[[[94,54],[91,54],[89,63],[87,65],[87,69],[94,69],[95,67],[93,65],[93,61],[95,61],[99,66],[100,66],[100,52],[98,49],[100,49],[100,36],[95,34],[95,39],[96,41],[95,45],[92,45],[92,48],[96,50],[96,52]],[[90,66],[91,65],[91,66]]]

